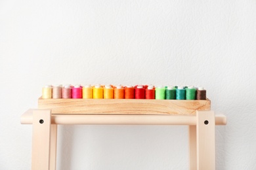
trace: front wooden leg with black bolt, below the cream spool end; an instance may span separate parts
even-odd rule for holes
[[[33,110],[32,170],[48,170],[50,162],[51,110]]]

